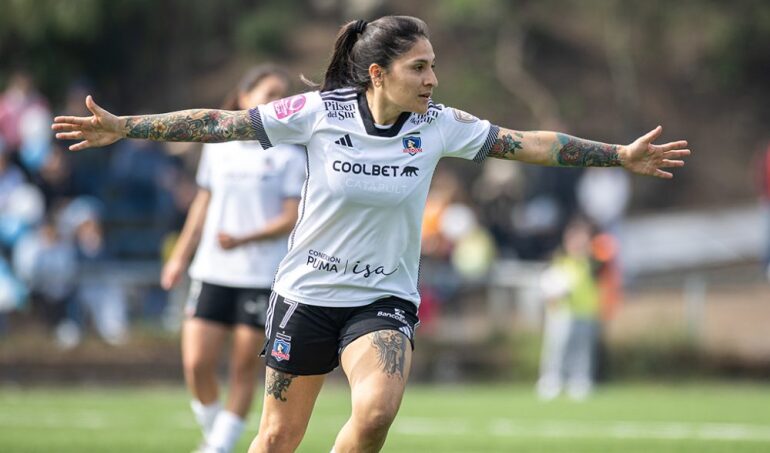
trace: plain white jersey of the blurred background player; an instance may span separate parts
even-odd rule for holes
[[[217,235],[244,236],[262,229],[299,198],[305,181],[305,152],[281,146],[268,152],[257,142],[207,144],[198,165],[198,185],[211,192],[190,276],[236,288],[269,288],[286,254],[287,236],[225,250]]]

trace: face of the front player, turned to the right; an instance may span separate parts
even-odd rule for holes
[[[414,46],[382,71],[385,99],[400,111],[425,113],[438,79],[433,68],[436,55],[430,41],[420,38]]]

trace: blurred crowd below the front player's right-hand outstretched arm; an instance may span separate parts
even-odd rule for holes
[[[423,222],[424,310],[432,312],[434,303],[451,306],[461,286],[484,284],[498,260],[551,260],[576,218],[589,223],[594,239],[606,244],[597,249],[604,255],[595,259],[611,264],[602,277],[610,282],[602,297],[607,301],[603,306],[613,306],[620,287],[617,235],[630,195],[622,169],[555,169],[492,160],[467,181],[459,171],[439,167]],[[611,308],[604,311],[607,315]]]

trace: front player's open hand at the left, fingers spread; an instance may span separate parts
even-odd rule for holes
[[[107,146],[123,138],[120,118],[99,107],[86,96],[86,107],[93,116],[57,116],[51,129],[59,140],[81,140],[70,146],[70,151]]]

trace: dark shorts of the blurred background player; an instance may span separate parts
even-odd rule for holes
[[[262,330],[269,300],[268,288],[235,288],[193,281],[185,315],[228,327],[245,324]]]

